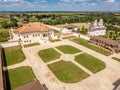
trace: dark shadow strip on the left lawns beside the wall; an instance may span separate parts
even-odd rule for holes
[[[2,60],[3,60],[3,63],[2,63],[3,67],[6,67],[7,66],[7,62],[6,62],[6,56],[5,56],[4,49],[2,49]],[[11,90],[8,70],[3,71],[3,77],[4,77],[4,88],[5,88],[5,90]]]

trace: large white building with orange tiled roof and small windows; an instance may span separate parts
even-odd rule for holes
[[[54,39],[54,30],[40,22],[28,23],[11,31],[13,40],[21,40],[22,44],[45,43]]]

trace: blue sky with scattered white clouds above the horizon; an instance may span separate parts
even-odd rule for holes
[[[120,0],[0,0],[0,11],[120,11]]]

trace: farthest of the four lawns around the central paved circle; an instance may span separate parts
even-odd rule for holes
[[[81,52],[79,49],[77,49],[73,46],[70,46],[70,45],[62,45],[62,46],[58,46],[56,48],[65,54],[75,54],[75,53]]]

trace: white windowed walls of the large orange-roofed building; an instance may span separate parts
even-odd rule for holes
[[[47,35],[46,37],[43,37],[43,35]],[[48,35],[49,34],[49,35]],[[35,43],[35,42],[43,42],[46,40],[49,40],[50,37],[54,39],[54,31],[49,32],[33,32],[33,33],[13,33],[13,40],[22,40],[22,44],[29,44],[29,43]]]

